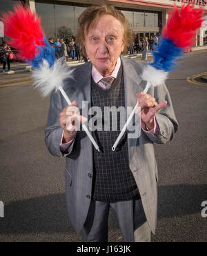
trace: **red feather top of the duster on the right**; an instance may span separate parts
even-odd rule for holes
[[[186,48],[195,41],[197,28],[201,27],[204,10],[194,8],[192,3],[183,5],[181,10],[174,6],[174,10],[169,13],[168,21],[161,35],[176,43],[178,47]]]

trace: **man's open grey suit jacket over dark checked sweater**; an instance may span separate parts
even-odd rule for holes
[[[121,63],[126,95],[125,104],[135,107],[136,93],[144,91],[146,86],[146,81],[141,80],[140,77],[144,64],[124,57],[121,57]],[[64,84],[64,90],[70,100],[76,100],[80,109],[82,101],[88,101],[86,107],[90,108],[91,68],[91,62],[73,67],[73,79],[66,80]],[[155,136],[141,130],[139,138],[128,138],[128,155],[129,167],[139,188],[148,224],[155,234],[158,173],[153,144],[170,141],[177,131],[178,124],[166,85],[151,87],[148,93],[155,97],[157,102],[163,100],[168,102],[166,107],[156,115],[160,135]],[[59,113],[66,106],[66,100],[59,91],[51,94],[45,140],[49,152],[54,156],[63,156],[59,149],[63,131],[59,124]],[[65,155],[66,202],[70,221],[77,232],[83,228],[90,205],[92,179],[88,173],[93,173],[92,147],[85,131],[78,131],[68,154]]]

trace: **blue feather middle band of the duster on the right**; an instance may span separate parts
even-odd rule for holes
[[[177,47],[174,42],[168,38],[161,37],[157,51],[152,52],[154,60],[149,65],[162,71],[172,71],[177,57],[183,55],[184,48]]]

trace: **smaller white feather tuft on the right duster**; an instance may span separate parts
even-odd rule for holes
[[[165,82],[167,76],[168,72],[158,70],[150,65],[146,65],[144,67],[141,78],[145,81],[150,82],[150,84],[153,86],[159,86]]]

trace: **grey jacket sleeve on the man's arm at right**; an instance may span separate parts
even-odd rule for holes
[[[175,112],[172,107],[172,100],[166,84],[161,84],[155,87],[155,99],[157,102],[166,100],[168,103],[166,107],[161,109],[155,116],[157,124],[159,125],[159,135],[154,135],[145,132],[145,134],[152,140],[153,143],[164,144],[172,140],[178,128],[178,122],[175,117]]]

